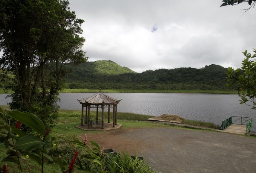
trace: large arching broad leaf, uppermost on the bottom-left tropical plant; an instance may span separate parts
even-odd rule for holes
[[[18,120],[26,126],[30,127],[41,136],[44,136],[45,126],[43,121],[41,121],[37,115],[31,113],[26,114],[20,111],[7,111],[7,114],[15,120]]]

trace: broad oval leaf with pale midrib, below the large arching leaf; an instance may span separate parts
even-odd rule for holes
[[[27,135],[16,141],[14,149],[18,151],[31,151],[43,147],[44,144],[40,138]]]

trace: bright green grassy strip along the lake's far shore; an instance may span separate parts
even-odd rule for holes
[[[60,93],[98,93],[99,90],[89,89],[63,89]],[[221,90],[102,90],[104,93],[184,93],[184,94],[237,94],[237,91],[221,91]],[[10,94],[11,90],[5,92],[0,88],[0,94]]]

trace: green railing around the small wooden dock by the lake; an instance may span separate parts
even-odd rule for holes
[[[246,131],[249,132],[251,129],[251,126],[253,125],[253,118],[232,116],[222,121],[220,129],[225,130],[231,124],[246,125]]]

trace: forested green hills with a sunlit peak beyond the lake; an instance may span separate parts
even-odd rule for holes
[[[147,70],[136,73],[113,61],[85,62],[73,68],[66,88],[227,90],[227,68],[209,65],[203,68]]]

